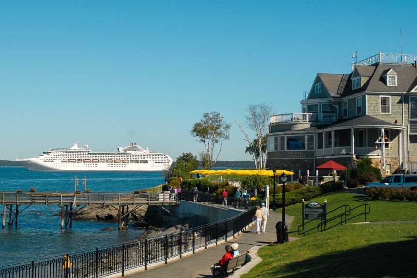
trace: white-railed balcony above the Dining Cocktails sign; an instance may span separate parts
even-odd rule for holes
[[[300,122],[300,123],[332,123],[337,121],[337,114],[290,113],[271,116],[271,124]]]

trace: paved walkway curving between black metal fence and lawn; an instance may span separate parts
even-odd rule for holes
[[[286,223],[290,227],[292,216],[285,216]],[[282,220],[282,215],[270,211],[270,217],[267,222],[267,229],[264,234],[257,234],[255,225],[246,232],[241,233],[227,243],[202,250],[194,255],[179,259],[175,262],[161,265],[159,267],[141,271],[131,275],[125,275],[129,278],[211,278],[210,265],[217,263],[225,254],[225,245],[232,243],[239,244],[239,252],[244,253],[252,247],[261,247],[276,241],[275,224]],[[290,238],[289,240],[294,240]],[[257,248],[254,248],[257,249]]]

